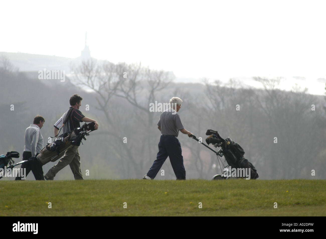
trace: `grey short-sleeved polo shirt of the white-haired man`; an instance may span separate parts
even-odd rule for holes
[[[157,126],[161,127],[161,134],[174,135],[176,137],[179,135],[179,130],[185,128],[181,123],[180,116],[174,109],[163,111],[157,122]]]

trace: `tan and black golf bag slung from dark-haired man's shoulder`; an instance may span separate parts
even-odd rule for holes
[[[64,133],[56,137],[51,144],[47,144],[41,149],[37,155],[37,160],[42,165],[48,162],[55,162],[64,156],[65,151],[72,146],[80,146],[82,139],[86,140],[85,135],[89,135],[91,131],[94,131],[94,122],[89,124],[85,123],[80,128],[75,128],[69,133]]]

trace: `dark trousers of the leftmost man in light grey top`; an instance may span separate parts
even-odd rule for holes
[[[32,157],[32,152],[24,151],[22,153],[22,160],[28,160],[30,157]],[[44,180],[42,166],[43,165],[35,158],[22,163],[21,170],[23,168],[26,168],[25,176],[27,176],[32,170],[32,173],[34,174],[36,180]],[[22,180],[22,177],[16,177],[15,180]]]

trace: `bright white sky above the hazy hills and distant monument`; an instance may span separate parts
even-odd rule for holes
[[[140,62],[177,77],[326,78],[326,1],[2,1],[0,51]],[[300,81],[298,82],[300,83]]]

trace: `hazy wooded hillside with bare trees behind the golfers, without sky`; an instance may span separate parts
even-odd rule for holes
[[[82,172],[90,171],[85,179],[141,178],[156,159],[160,137],[156,125],[160,112],[150,112],[150,103],[168,103],[178,96],[183,100],[178,113],[185,128],[203,142],[207,129],[230,136],[244,148],[261,179],[325,178],[325,98],[298,87],[281,91],[276,88],[279,79],[254,77],[263,90],[241,88],[232,79],[228,84],[205,79],[202,84],[174,83],[172,72],[89,58],[72,60],[73,74],[61,82],[40,80],[38,72],[19,71],[7,58],[1,59],[3,154],[10,150],[22,154],[24,131],[37,114],[45,118],[41,133],[46,144],[54,134],[53,124],[67,111],[70,96],[78,93],[83,97],[82,113],[99,123],[99,130],[79,148]],[[213,152],[185,134],[178,139],[188,179],[210,179],[220,173]],[[44,165],[44,173],[54,164]],[[162,169],[165,176],[158,174],[156,179],[175,178],[169,160]],[[57,179],[73,179],[70,168]]]

